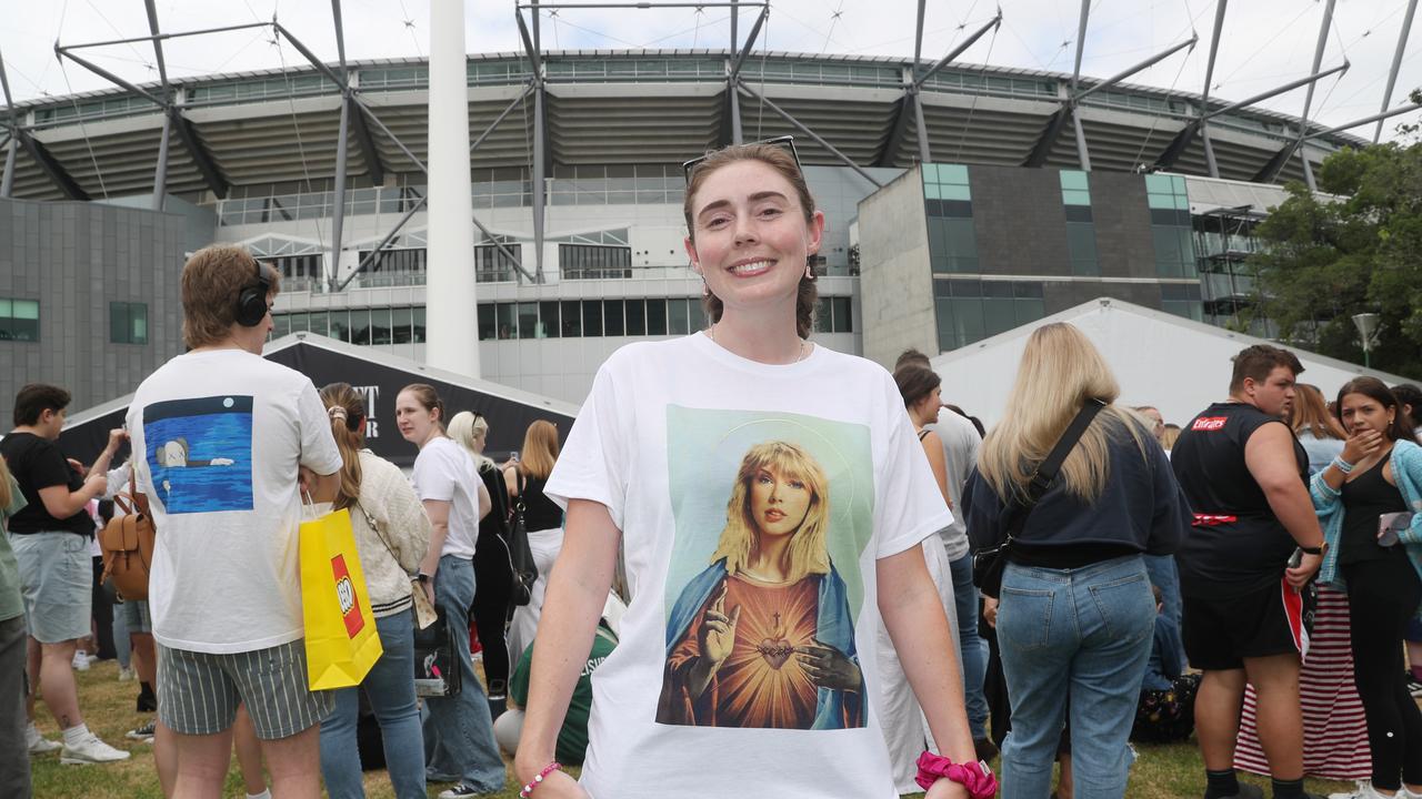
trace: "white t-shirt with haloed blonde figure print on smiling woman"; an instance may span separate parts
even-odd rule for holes
[[[781,454],[781,472],[819,475],[788,485],[823,495],[829,572],[781,589],[711,557],[737,503],[755,508],[737,499],[752,490],[734,492],[766,451]],[[593,678],[582,782],[594,799],[897,795],[869,699],[875,562],[953,516],[882,367],[823,347],[759,364],[702,334],[627,345],[599,370],[546,493],[565,508],[599,502],[623,532],[631,603]],[[718,600],[738,618],[737,648],[698,694],[678,664]],[[799,653],[812,645],[839,651],[857,690],[811,680]]]

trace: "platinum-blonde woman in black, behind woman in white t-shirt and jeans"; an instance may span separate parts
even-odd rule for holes
[[[509,492],[503,475],[483,455],[489,422],[478,412],[459,411],[449,419],[449,438],[474,455],[483,489],[489,492],[491,510],[479,519],[479,540],[474,550],[474,624],[483,644],[483,678],[489,681],[489,712],[499,718],[508,699],[509,647],[505,626],[509,621],[509,591],[513,570],[509,562]]]

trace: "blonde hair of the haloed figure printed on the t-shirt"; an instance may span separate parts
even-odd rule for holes
[[[761,469],[803,481],[811,493],[805,520],[791,539],[791,562],[785,569],[788,580],[798,583],[808,574],[829,574],[829,547],[825,543],[829,527],[829,481],[808,452],[788,441],[766,441],[745,452],[731,499],[725,503],[725,529],[721,530],[721,542],[711,563],[724,557],[727,574],[735,574],[749,562],[759,535],[751,512],[751,485]]]

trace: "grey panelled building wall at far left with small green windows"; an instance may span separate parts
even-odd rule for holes
[[[0,200],[0,297],[40,301],[38,341],[0,341],[0,424],[26,382],[67,388],[70,412],[134,391],[183,351],[182,215]],[[109,341],[109,301],[148,304],[148,343]]]

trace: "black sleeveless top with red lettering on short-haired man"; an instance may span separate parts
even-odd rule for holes
[[[1194,526],[1176,554],[1186,596],[1237,597],[1284,577],[1294,539],[1244,463],[1244,445],[1267,424],[1284,422],[1244,402],[1216,402],[1185,425],[1170,451],[1194,512]],[[1308,455],[1290,438],[1298,479],[1307,485]]]

